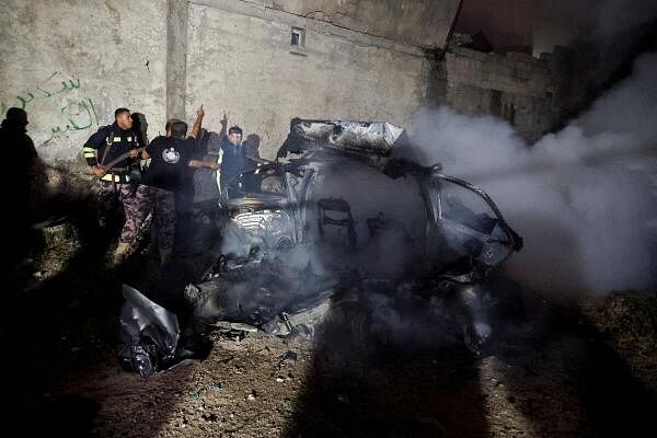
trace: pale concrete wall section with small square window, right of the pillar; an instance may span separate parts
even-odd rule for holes
[[[292,27],[304,47],[290,45]],[[244,2],[189,4],[187,118],[229,124],[262,138],[273,158],[292,117],[404,125],[426,103],[429,62],[413,46]]]

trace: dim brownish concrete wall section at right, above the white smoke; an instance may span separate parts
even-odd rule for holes
[[[484,54],[462,47],[448,50],[436,70],[434,100],[471,115],[508,120],[528,141],[556,122],[558,77],[546,59],[530,55]]]

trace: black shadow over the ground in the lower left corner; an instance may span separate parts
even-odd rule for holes
[[[3,424],[22,436],[90,436],[94,428],[103,427],[97,424],[100,410],[118,408],[116,424],[111,425],[115,431],[122,427],[134,431],[139,424],[152,431],[175,405],[180,392],[176,387],[185,384],[186,371],[180,369],[175,379],[154,376],[147,381],[120,370],[122,285],[141,288],[152,299],[180,310],[184,320],[176,293],[182,298],[184,285],[194,275],[193,267],[172,263],[170,269],[161,272],[153,269],[147,255],[111,267],[107,254],[116,243],[118,229],[101,232],[95,227],[93,196],[57,195],[51,201],[58,211],[67,212],[58,227],[66,228],[69,240],[76,242],[68,250],[60,249],[66,262],[57,274],[35,278],[35,274],[43,273],[34,273],[30,263],[53,257],[44,254],[53,250],[44,241],[44,230],[26,228],[25,233],[16,233],[21,235],[16,246],[23,251],[11,253],[3,264],[0,373],[8,406],[2,411]],[[107,390],[107,382],[115,387]],[[143,395],[145,388],[162,389],[162,384],[166,384],[165,391]],[[131,387],[134,396],[129,396]],[[106,400],[114,395],[122,396]],[[115,402],[124,404],[108,405]],[[143,408],[149,405],[152,408]]]

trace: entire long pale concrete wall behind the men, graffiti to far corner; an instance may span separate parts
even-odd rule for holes
[[[308,13],[319,3],[325,14]],[[459,0],[319,3],[4,0],[1,114],[27,111],[46,160],[79,159],[119,106],[146,115],[149,138],[168,117],[193,122],[200,104],[206,127],[219,130],[227,110],[261,135],[264,157],[295,116],[403,125],[427,99],[419,46],[445,43]],[[292,26],[306,32],[304,47],[290,47]]]

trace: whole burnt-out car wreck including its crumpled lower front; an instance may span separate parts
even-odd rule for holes
[[[233,335],[341,325],[407,342],[376,321],[387,308],[476,353],[486,278],[522,239],[483,189],[405,158],[407,141],[389,123],[293,119],[276,161],[221,195],[221,253],[184,291],[193,318]]]

